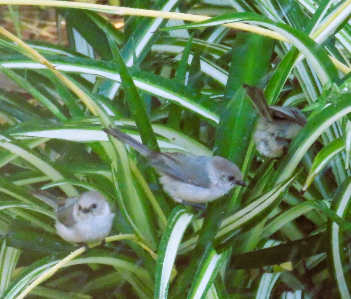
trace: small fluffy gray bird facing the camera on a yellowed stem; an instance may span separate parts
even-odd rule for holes
[[[106,198],[97,191],[68,198],[55,197],[43,190],[29,193],[55,209],[57,233],[68,242],[100,242],[111,232],[114,214]]]

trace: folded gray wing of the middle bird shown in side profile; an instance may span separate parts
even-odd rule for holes
[[[211,184],[207,174],[210,159],[205,156],[163,153],[151,159],[151,165],[175,180],[206,188]]]

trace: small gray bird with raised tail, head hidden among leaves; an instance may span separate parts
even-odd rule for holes
[[[306,123],[305,115],[296,107],[267,104],[263,90],[244,84],[247,94],[261,113],[253,135],[256,148],[268,158],[279,158],[286,153],[291,140]]]

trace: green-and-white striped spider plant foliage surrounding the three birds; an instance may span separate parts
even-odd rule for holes
[[[67,43],[22,38],[25,4]],[[0,5],[15,33],[0,27],[0,298],[351,298],[351,0]],[[307,117],[282,157],[256,150],[244,84]],[[247,187],[200,215],[110,126],[225,157]],[[101,192],[105,246],[62,240],[38,189]]]

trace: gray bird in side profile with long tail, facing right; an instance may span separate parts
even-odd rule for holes
[[[176,202],[201,206],[225,195],[236,185],[246,186],[238,166],[225,158],[154,152],[120,129],[104,131],[147,157],[160,174],[163,189]]]

